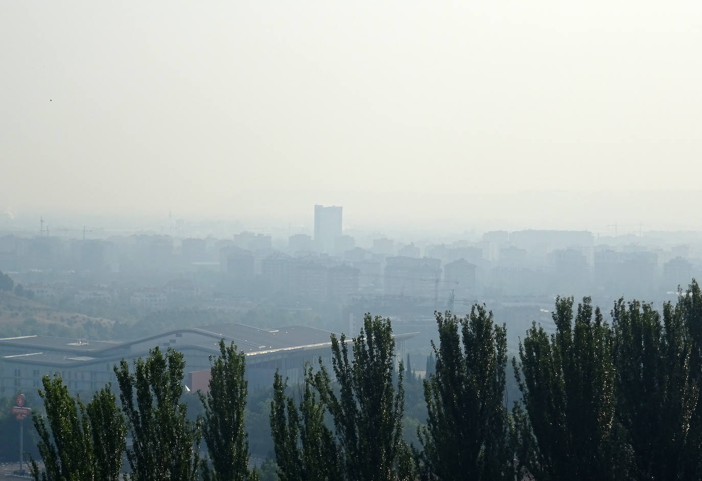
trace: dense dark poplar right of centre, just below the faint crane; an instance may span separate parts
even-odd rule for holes
[[[415,451],[426,480],[514,480],[514,449],[505,407],[507,336],[492,312],[435,313],[436,372],[424,381],[427,425]]]

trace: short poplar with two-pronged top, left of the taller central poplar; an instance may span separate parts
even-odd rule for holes
[[[270,428],[281,481],[334,481],[342,479],[336,440],[324,424],[325,409],[312,383],[312,367],[305,369],[299,410],[286,397],[286,381],[276,372],[270,408]]]

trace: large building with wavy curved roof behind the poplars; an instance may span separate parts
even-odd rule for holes
[[[404,356],[404,341],[416,333],[396,334],[398,360]],[[289,326],[263,329],[241,324],[220,324],[171,330],[127,342],[86,341],[48,336],[0,339],[0,396],[22,392],[37,395],[44,374],[59,373],[69,391],[89,399],[108,382],[116,385],[113,367],[121,359],[132,365],[146,358],[149,350],[176,348],[185,355],[185,386],[206,389],[210,356],[219,355],[219,341],[234,341],[246,354],[249,389],[272,386],[276,370],[291,383],[302,379],[306,362],[319,358],[331,365],[331,332],[314,327]],[[350,339],[347,339],[350,341]],[[331,370],[331,369],[330,369]]]

